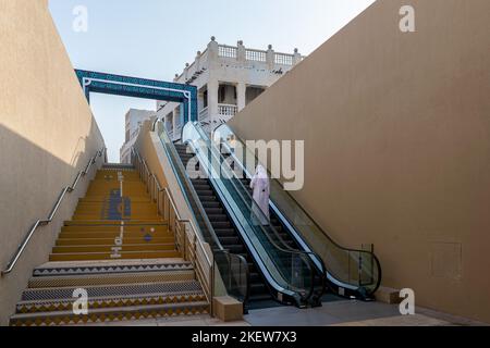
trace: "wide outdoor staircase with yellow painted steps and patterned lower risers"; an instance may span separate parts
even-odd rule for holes
[[[84,296],[88,312],[79,313]],[[138,173],[106,165],[62,227],[49,262],[34,270],[10,324],[93,324],[208,312],[193,264],[175,250],[174,236]]]

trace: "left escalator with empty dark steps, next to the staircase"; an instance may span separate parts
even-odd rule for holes
[[[216,163],[219,167],[226,158],[212,147],[203,129],[188,123],[183,129],[184,144],[173,144],[161,122],[157,124],[182,191],[212,247],[215,259],[225,252],[245,260],[246,309],[271,303],[320,306],[326,288],[324,270],[317,272],[310,252],[293,248],[294,243],[284,243],[279,229],[262,223],[264,213],[242,182],[217,171]],[[229,271],[218,266],[230,278]]]

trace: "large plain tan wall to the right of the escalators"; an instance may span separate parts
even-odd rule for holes
[[[399,30],[412,4],[416,33]],[[490,1],[380,0],[232,122],[306,140],[294,196],[383,284],[490,322]]]

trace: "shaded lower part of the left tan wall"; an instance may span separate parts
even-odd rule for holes
[[[28,229],[38,219],[46,219],[61,190],[73,184],[78,171],[103,144],[98,127],[91,121],[89,135],[81,137],[66,163],[59,157],[34,145],[28,139],[0,125],[0,268],[3,270]],[[60,144],[70,147],[70,144]],[[101,163],[99,159],[98,164]],[[0,277],[0,325],[8,324],[15,310],[33,269],[48,261],[54,240],[64,221],[70,220],[78,198],[86,192],[95,171],[79,182],[77,189],[69,194],[57,216],[48,226],[41,226],[22,254],[13,272]]]

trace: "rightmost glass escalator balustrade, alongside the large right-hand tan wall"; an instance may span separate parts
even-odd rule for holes
[[[225,124],[215,130],[212,138],[213,147],[229,158],[234,175],[249,190],[250,173],[260,163],[255,151],[247,149],[246,144]],[[249,163],[253,163],[250,169],[247,167]],[[271,224],[282,232],[284,243],[309,252],[317,271],[324,270],[331,293],[360,300],[373,298],[381,284],[381,266],[371,245],[363,250],[338,245],[284,190],[278,179],[270,181],[269,206]]]

